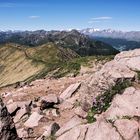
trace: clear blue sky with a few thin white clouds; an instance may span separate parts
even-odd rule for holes
[[[140,0],[0,0],[0,30],[140,31]]]

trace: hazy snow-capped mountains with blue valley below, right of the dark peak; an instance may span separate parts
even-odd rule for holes
[[[123,32],[116,30],[99,30],[87,28],[80,31],[92,39],[112,45],[119,51],[140,48],[140,31]]]

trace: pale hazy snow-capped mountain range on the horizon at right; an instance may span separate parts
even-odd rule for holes
[[[126,39],[129,41],[140,42],[140,31],[124,32],[124,31],[116,31],[111,29],[99,30],[99,29],[87,28],[81,30],[81,33],[93,37],[119,38],[119,39]]]

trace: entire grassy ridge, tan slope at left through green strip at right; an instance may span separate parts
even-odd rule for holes
[[[60,78],[72,73],[76,76],[83,66],[90,62],[111,60],[112,56],[80,57],[69,48],[63,48],[54,43],[38,47],[5,44],[0,46],[0,87],[17,82],[31,82],[43,78],[48,73],[58,69],[52,76]]]

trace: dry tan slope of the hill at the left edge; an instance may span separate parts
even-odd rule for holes
[[[0,47],[0,87],[24,81],[32,74],[38,73],[43,65],[34,65],[22,49],[6,44]]]

